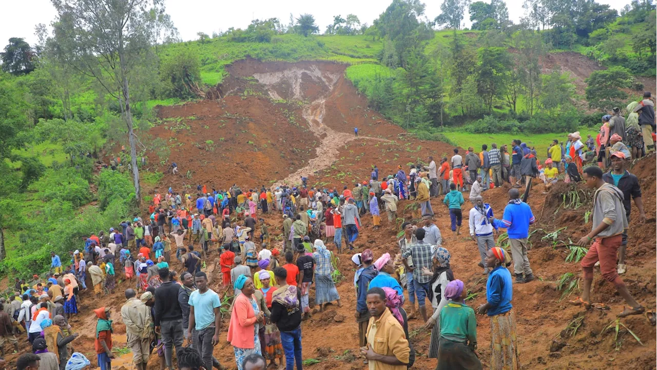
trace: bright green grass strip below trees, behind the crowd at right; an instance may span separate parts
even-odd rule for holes
[[[586,140],[587,134],[595,137],[597,135],[595,128],[582,127],[579,134],[582,136],[582,142]],[[443,132],[447,138],[455,142],[460,147],[468,148],[473,147],[475,151],[482,149],[482,144],[487,144],[490,149],[491,143],[496,143],[497,146],[507,144],[510,147],[511,140],[518,139],[527,143],[530,147],[536,148],[536,153],[539,159],[547,158],[547,148],[550,147],[552,140],[558,139],[559,141],[566,141],[568,132],[558,134],[535,134],[526,136],[524,134],[470,134],[468,132],[448,131]],[[451,153],[447,153],[451,155]]]

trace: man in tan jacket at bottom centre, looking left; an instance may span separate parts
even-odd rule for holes
[[[361,347],[361,354],[370,369],[405,370],[411,348],[403,327],[386,307],[382,288],[367,291],[367,309],[372,317],[367,326],[367,346]]]

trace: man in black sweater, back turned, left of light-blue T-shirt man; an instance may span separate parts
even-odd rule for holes
[[[155,332],[162,334],[164,359],[169,370],[173,370],[173,347],[177,354],[183,348],[183,311],[178,304],[180,286],[171,281],[169,269],[158,271],[162,285],[155,290]]]

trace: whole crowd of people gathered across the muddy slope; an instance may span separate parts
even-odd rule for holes
[[[593,228],[578,242],[593,242],[581,261],[583,294],[570,303],[591,307],[593,268],[599,264],[602,276],[629,305],[619,317],[645,310],[619,276],[627,270],[631,199],[639,221],[646,219],[639,181],[625,169],[631,158],[654,151],[652,136],[645,130],[651,114],[654,122],[654,110],[649,93],[645,97],[628,105],[627,120],[620,109],[602,117],[595,140],[583,143],[579,132],[569,134],[565,145],[554,140],[542,164],[532,147],[513,140],[510,151],[507,145],[493,143],[488,149],[484,144],[479,153],[468,148],[465,158],[455,148],[440,165],[428,157],[426,165],[411,165],[408,174],[399,166],[397,172],[380,176],[374,165],[369,179],[342,190],[309,186],[303,177],[297,186],[248,191],[237,184],[210,191],[198,185],[194,196],[172,188],[164,195],[156,191],[145,220],[135,214],[107,232],[91,234],[66,261],[53,251],[44,280],[37,275],[31,284],[15,279],[16,293],[9,302],[0,299],[1,354],[6,342],[17,352],[17,336],[24,334],[34,354],[21,356],[18,369],[89,366],[82,354],[70,354],[78,334],[68,321],[78,314],[81,292],[93,288],[96,297],[113,294],[121,278],[131,284],[124,291],[120,315],[137,369],[147,369],[151,354],[157,354],[160,369],[173,369],[174,353],[179,369],[225,369],[213,348],[222,340],[226,313],[230,319],[225,339],[233,346],[239,370],[289,370],[295,365],[302,369],[301,323],[313,313],[311,290],[319,311],[333,302],[342,306],[334,281],[339,275],[335,250],[351,254],[359,346],[370,369],[401,370],[413,364],[408,323],[420,318],[424,329],[431,331],[428,357],[437,359],[437,369],[481,369],[477,313],[486,314],[491,323],[490,368],[519,369],[512,286],[535,279],[528,258],[529,228],[535,217],[521,198],[522,184],[525,196],[532,182],[537,183],[535,178],[543,182],[546,193],[562,178],[584,181],[595,189]],[[593,165],[585,167],[589,163]],[[606,168],[610,171],[604,172]],[[497,219],[484,194],[505,182],[510,184],[509,203]],[[466,203],[463,192],[468,190]],[[486,304],[476,309],[464,303],[467,289],[453,273],[451,253],[443,246],[431,203],[436,198],[449,211],[455,240],[461,234],[463,207],[470,207],[470,238],[478,249],[477,265],[487,276]],[[413,201],[422,221],[401,223],[398,253],[378,258],[370,249],[354,253],[361,217],[369,214],[376,230],[385,223],[380,215],[386,211],[388,226],[399,230],[400,199]],[[258,217],[272,213],[283,218],[276,247],[277,235]],[[507,250],[495,247],[494,237],[502,228],[507,230]],[[213,254],[219,280],[215,282],[201,271]],[[173,269],[176,260],[179,273]],[[211,283],[223,286],[223,298]],[[112,309],[99,307],[94,313],[97,363],[101,370],[111,369]]]

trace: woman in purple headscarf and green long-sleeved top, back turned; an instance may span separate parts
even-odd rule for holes
[[[440,311],[440,344],[436,370],[482,369],[475,354],[477,320],[474,309],[465,304],[467,293],[461,280],[452,280],[445,288],[449,300]]]

